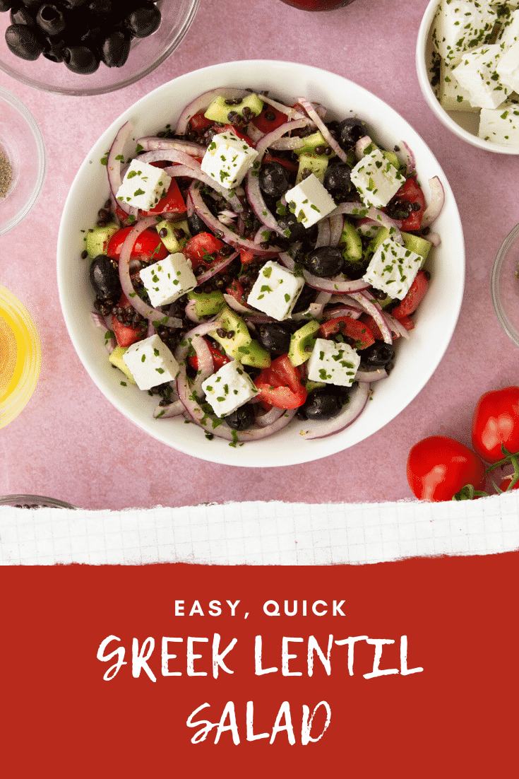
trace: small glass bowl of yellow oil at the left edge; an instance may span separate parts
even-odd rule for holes
[[[0,429],[29,403],[40,365],[40,337],[29,312],[0,287]]]

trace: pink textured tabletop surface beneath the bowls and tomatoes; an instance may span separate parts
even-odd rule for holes
[[[519,382],[517,347],[500,329],[490,270],[519,221],[519,157],[452,136],[419,90],[415,41],[426,0],[356,0],[305,13],[279,2],[202,0],[181,46],[141,82],[100,97],[58,97],[0,73],[33,113],[47,145],[47,180],[30,216],[0,238],[0,284],[33,315],[43,347],[40,381],[22,414],[0,431],[0,494],[36,493],[85,509],[186,506],[232,500],[384,502],[412,497],[409,448],[426,435],[469,442],[479,396]],[[395,108],[449,178],[465,231],[467,280],[454,337],[419,396],[386,428],[344,453],[285,468],[206,464],[158,444],[116,411],[75,355],[61,316],[55,245],[79,165],[100,133],[156,86],[193,69],[247,58],[331,70]]]

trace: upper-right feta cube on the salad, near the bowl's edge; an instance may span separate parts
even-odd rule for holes
[[[350,178],[364,205],[375,208],[387,206],[405,182],[405,176],[386,160],[380,149],[365,154],[352,168]]]

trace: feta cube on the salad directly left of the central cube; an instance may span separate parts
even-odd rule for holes
[[[142,284],[154,306],[169,305],[197,285],[191,263],[182,252],[170,254],[140,271]]]

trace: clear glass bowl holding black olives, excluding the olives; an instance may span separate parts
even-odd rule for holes
[[[10,25],[9,12],[0,13],[0,70],[38,90],[62,95],[100,95],[120,90],[139,81],[166,60],[188,32],[199,0],[161,0],[160,27],[146,38],[134,38],[128,60],[121,68],[107,68],[101,62],[94,73],[74,73],[63,62],[51,62],[43,55],[37,60],[16,57],[5,43]]]

